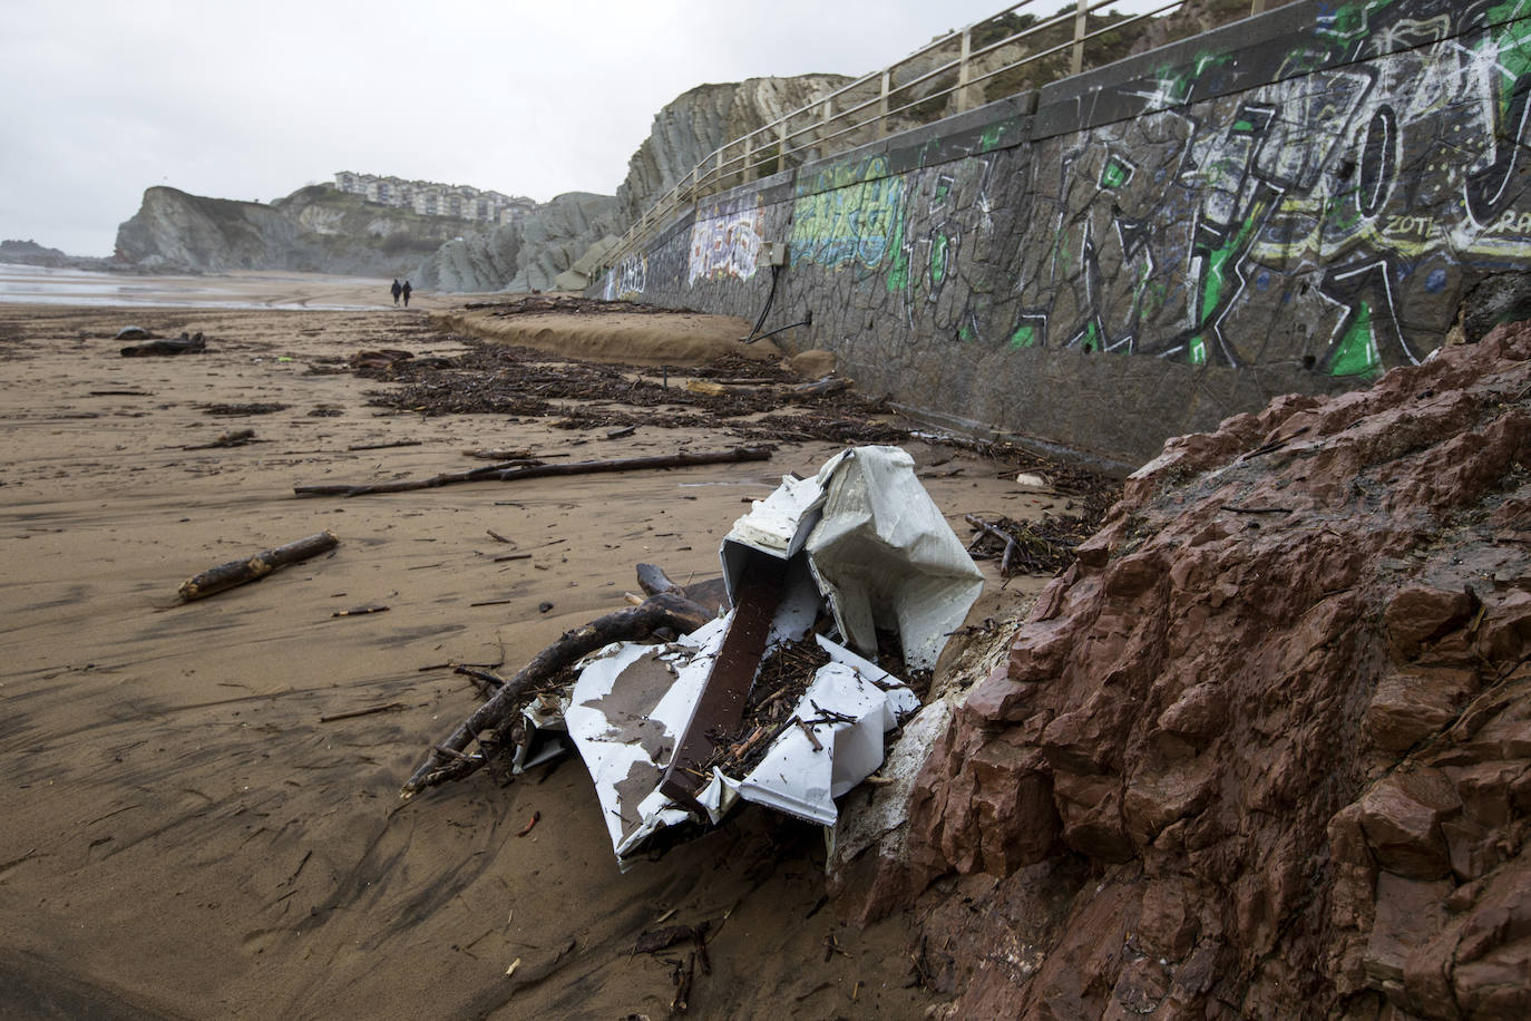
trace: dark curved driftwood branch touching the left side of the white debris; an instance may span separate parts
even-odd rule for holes
[[[556,677],[559,670],[576,663],[612,641],[643,638],[660,628],[689,634],[710,620],[703,608],[677,592],[660,592],[641,606],[619,609],[599,617],[583,628],[568,631],[557,641],[539,652],[514,677],[508,678],[495,696],[473,710],[456,730],[430,747],[430,755],[400,788],[401,798],[413,798],[427,787],[461,779],[484,765],[484,755],[464,755],[462,749],[478,739],[478,735],[495,730],[521,709],[524,695]]]

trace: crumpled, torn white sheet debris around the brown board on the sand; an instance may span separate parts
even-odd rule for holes
[[[750,557],[787,562],[766,655],[804,638],[825,602],[842,635],[876,649],[876,628],[897,629],[905,663],[931,667],[961,625],[983,576],[897,447],[857,447],[811,479],[785,478],[758,501],[720,550],[730,599]],[[692,819],[660,791],[690,723],[732,614],[668,646],[617,643],[591,655],[563,723],[596,782],[619,862],[658,830]],[[902,680],[816,635],[831,663],[793,710],[766,758],[733,778],[713,768],[698,802],[713,824],[738,801],[834,825],[834,798],[883,762],[883,735],[919,710]],[[810,739],[808,732],[813,733]]]

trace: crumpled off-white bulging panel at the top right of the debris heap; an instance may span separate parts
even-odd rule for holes
[[[847,641],[897,631],[909,669],[929,669],[983,589],[983,572],[899,447],[854,447],[818,476],[821,519],[805,550]]]

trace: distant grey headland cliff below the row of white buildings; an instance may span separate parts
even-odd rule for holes
[[[136,268],[225,272],[299,269],[387,277],[461,234],[464,220],[363,202],[328,185],[271,205],[149,188],[116,233],[116,262]]]

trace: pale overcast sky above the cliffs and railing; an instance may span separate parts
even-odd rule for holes
[[[5,0],[0,239],[107,256],[147,187],[269,202],[337,170],[609,194],[694,86],[860,75],[1004,6]]]

